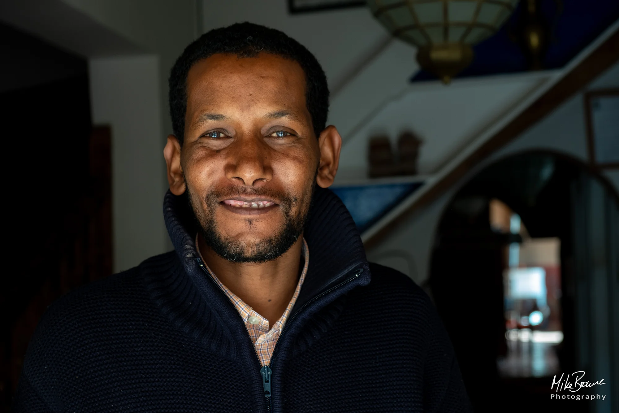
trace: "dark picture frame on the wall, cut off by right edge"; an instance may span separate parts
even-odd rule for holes
[[[589,162],[597,168],[619,168],[619,112],[612,110],[619,103],[619,89],[591,90],[584,94],[584,103]],[[617,128],[608,127],[609,122]]]

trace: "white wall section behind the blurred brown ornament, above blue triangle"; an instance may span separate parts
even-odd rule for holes
[[[407,130],[423,141],[419,173],[434,173],[549,78],[550,74],[526,73],[455,79],[449,85],[408,85],[345,141],[340,157],[342,175],[367,173],[370,137],[386,135],[396,147],[399,134]]]

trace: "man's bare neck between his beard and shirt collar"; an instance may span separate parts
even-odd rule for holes
[[[284,314],[298,283],[303,234],[290,250],[266,263],[233,263],[220,257],[198,235],[202,258],[215,276],[243,302],[269,320]]]

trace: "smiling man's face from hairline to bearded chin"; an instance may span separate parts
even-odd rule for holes
[[[274,54],[215,54],[189,70],[176,194],[188,191],[220,256],[268,261],[300,236],[321,164],[305,87],[301,66]]]

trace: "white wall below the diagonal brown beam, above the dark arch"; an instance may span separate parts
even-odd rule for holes
[[[587,90],[619,87],[619,63],[591,82]],[[577,93],[539,123],[534,124],[521,136],[511,141],[502,149],[490,155],[474,170],[462,176],[462,179],[448,189],[435,201],[418,209],[379,245],[367,251],[368,259],[377,263],[393,266],[412,277],[417,284],[423,284],[429,276],[430,255],[435,242],[436,227],[449,201],[464,183],[476,173],[503,157],[532,149],[548,149],[563,152],[566,155],[587,162],[587,141],[584,121],[584,93]],[[607,176],[619,191],[619,172],[605,170]],[[410,262],[415,263],[412,270],[407,268],[404,259],[390,258],[390,253],[409,254]],[[386,257],[386,258],[384,258]]]

